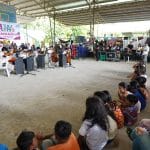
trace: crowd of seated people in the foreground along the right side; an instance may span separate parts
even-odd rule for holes
[[[134,68],[137,66],[145,67],[143,62],[137,63]],[[22,131],[16,140],[17,149],[102,150],[115,143],[118,130],[124,127],[133,141],[133,150],[149,150],[150,119],[143,119],[138,123],[138,116],[146,109],[150,99],[146,81],[145,72],[132,78],[129,83],[118,83],[118,100],[113,100],[107,90],[92,93],[92,96],[86,99],[86,110],[78,138],[72,132],[71,123],[60,120],[56,122],[53,134]],[[4,144],[1,144],[0,148],[8,149]]]

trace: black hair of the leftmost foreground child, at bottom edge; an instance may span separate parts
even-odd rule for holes
[[[35,137],[34,132],[22,131],[16,140],[16,144],[19,150],[29,150],[34,137]]]

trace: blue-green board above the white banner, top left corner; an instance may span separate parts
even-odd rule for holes
[[[15,7],[0,3],[0,21],[16,23]]]

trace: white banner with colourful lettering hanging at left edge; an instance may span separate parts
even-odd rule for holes
[[[20,40],[20,25],[0,21],[0,39]]]

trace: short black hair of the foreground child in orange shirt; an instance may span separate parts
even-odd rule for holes
[[[72,126],[69,122],[60,120],[55,124],[55,134],[62,140],[68,139],[72,131]]]

